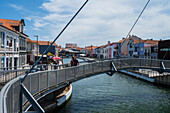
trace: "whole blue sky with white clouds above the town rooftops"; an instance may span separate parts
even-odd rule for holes
[[[53,41],[86,0],[0,0],[0,18],[25,21],[31,40]],[[126,37],[148,0],[89,0],[56,41],[99,46]],[[170,39],[170,0],[151,0],[131,32],[142,39]]]

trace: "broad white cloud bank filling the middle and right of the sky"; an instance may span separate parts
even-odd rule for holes
[[[89,0],[57,43],[64,46],[66,42],[73,42],[85,46],[102,45],[108,40],[118,41],[127,35],[147,1]],[[48,39],[53,40],[83,2],[82,0],[48,0],[41,6],[48,14],[39,17],[34,26],[42,27],[45,36],[48,34]],[[131,34],[155,39],[170,36],[169,4],[168,0],[151,1]],[[47,25],[48,29],[45,28]]]

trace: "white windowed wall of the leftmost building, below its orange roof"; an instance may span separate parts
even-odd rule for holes
[[[0,64],[1,67],[14,69],[11,67],[19,66],[19,34],[15,33],[3,26],[0,26],[0,33],[4,33],[4,45],[2,47],[2,40],[0,41]],[[0,35],[2,39],[2,35]],[[3,66],[2,66],[3,64]]]

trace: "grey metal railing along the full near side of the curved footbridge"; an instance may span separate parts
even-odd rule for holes
[[[75,67],[48,71],[39,71],[31,73],[23,82],[24,86],[35,96],[41,91],[57,86],[61,83],[77,80],[87,75],[97,74],[111,70],[111,64],[114,63],[115,68],[126,69],[129,67],[145,67],[145,68],[161,68],[160,60],[148,59],[113,59],[105,61],[97,61],[94,63],[83,64]],[[163,61],[165,68],[170,69],[170,62]],[[7,83],[1,90],[0,112],[2,113],[17,113],[20,110],[19,95],[20,95],[20,78],[17,77]],[[27,99],[23,97],[23,105]]]

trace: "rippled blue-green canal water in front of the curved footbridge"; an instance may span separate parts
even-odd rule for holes
[[[99,74],[72,86],[71,99],[57,113],[170,113],[169,88],[124,74]]]

